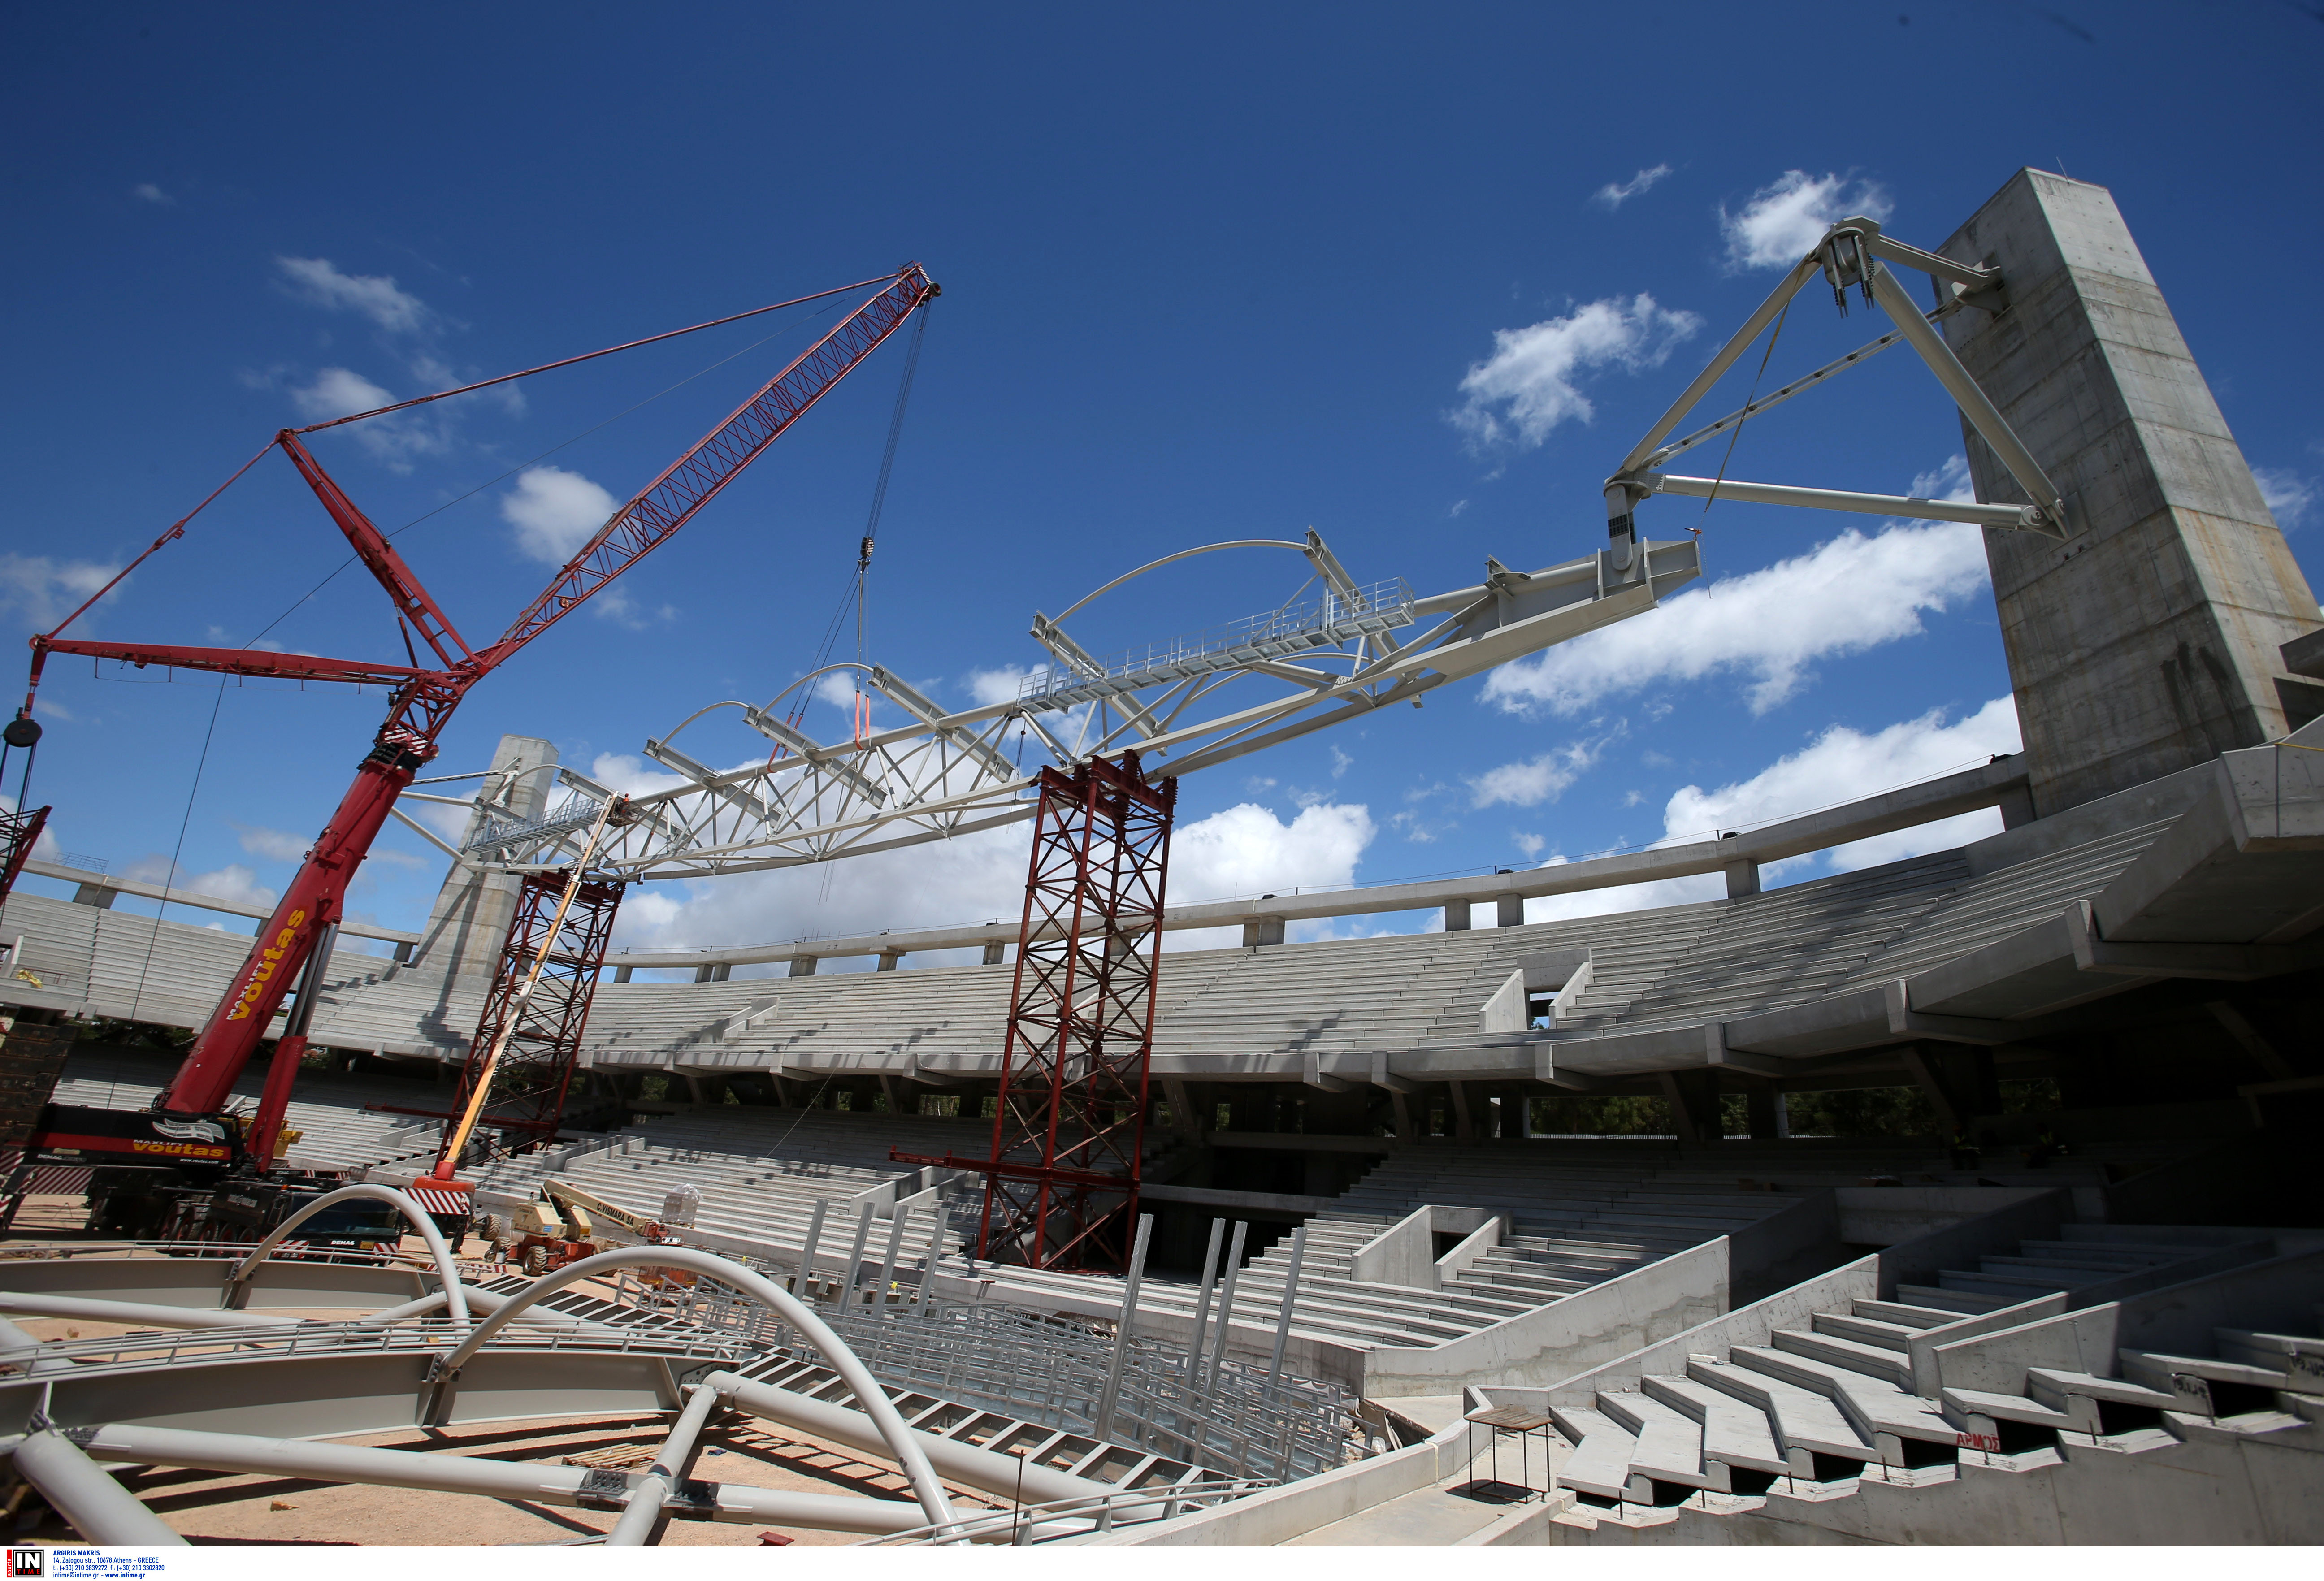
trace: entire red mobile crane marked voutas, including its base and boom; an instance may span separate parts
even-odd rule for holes
[[[593,593],[676,535],[676,530],[683,528],[686,521],[711,500],[711,495],[734,481],[734,477],[751,465],[751,460],[755,460],[767,444],[772,444],[786,428],[790,428],[790,423],[830,393],[832,386],[853,372],[855,365],[862,363],[883,339],[902,328],[916,309],[939,295],[939,286],[927,277],[927,270],[918,263],[909,263],[895,274],[860,281],[858,286],[839,286],[837,291],[816,293],[816,298],[858,291],[862,286],[878,286],[878,291],[874,291],[871,298],[855,307],[853,314],[839,321],[783,372],[769,379],[718,428],[679,456],[658,479],[653,479],[653,484],[614,512],[614,516],[597,528],[597,535],[572,560],[567,560],[565,570],[555,574],[539,598],[525,604],[516,621],[509,623],[509,630],[504,630],[500,639],[488,646],[472,649],[460,637],[451,618],[446,618],[442,607],[437,607],[437,600],[428,593],[411,567],[404,565],[402,556],[395,553],[388,537],[372,525],[356,502],[349,500],[330,474],[323,472],[323,465],[307,451],[307,446],[300,444],[302,432],[332,428],[335,423],[316,423],[302,430],[286,428],[274,435],[267,449],[258,456],[279,446],[307,479],[307,486],[314,488],[323,509],[330,512],[330,518],[346,535],[349,544],[353,544],[356,556],[393,600],[397,625],[404,632],[407,656],[411,658],[409,665],[376,665],[365,660],[316,658],[309,653],[267,653],[251,649],[186,649],[144,642],[58,639],[56,632],[70,625],[72,618],[79,616],[79,609],[56,630],[33,637],[33,677],[30,688],[26,691],[23,709],[19,711],[21,721],[30,721],[33,695],[40,688],[40,674],[49,653],[86,653],[91,658],[125,660],[137,667],[170,665],[179,670],[290,677],[302,681],[374,681],[390,686],[393,700],[388,704],[388,718],[372,742],[372,751],[360,765],[356,765],[356,784],[349,786],[346,795],[339,800],[339,809],[316,837],[314,849],[297,870],[297,877],[284,890],[281,904],[274,907],[274,916],[270,916],[258,930],[258,939],[251,946],[249,958],[235,972],[225,988],[225,997],[218,1002],[216,1011],[211,1011],[202,1032],[193,1039],[186,1063],[170,1081],[170,1088],[153,1104],[153,1111],[121,1114],[109,1109],[51,1104],[44,1111],[40,1130],[28,1142],[26,1158],[33,1158],[35,1153],[53,1153],[70,1156],[79,1162],[135,1160],[142,1165],[191,1162],[209,1167],[232,1167],[237,1162],[253,1160],[258,1169],[265,1169],[272,1162],[274,1135],[290,1097],[290,1076],[297,1072],[297,1063],[304,1056],[304,1025],[286,1025],[284,1037],[277,1042],[274,1065],[251,1128],[249,1149],[244,1149],[242,1139],[235,1137],[235,1130],[218,1116],[225,1109],[225,1100],[235,1081],[242,1076],[251,1056],[258,1051],[260,1039],[267,1035],[284,995],[290,990],[293,981],[302,977],[302,970],[311,963],[321,963],[316,956],[318,937],[323,930],[337,925],[346,886],[353,879],[356,867],[370,853],[372,839],[386,823],[395,797],[411,784],[418,767],[435,758],[437,737],[451,721],[453,709],[460,707],[460,698],[465,698],[476,681],[516,656],[518,649],[562,621]],[[797,298],[797,302],[816,298]],[[776,302],[776,307],[790,305],[792,302]],[[716,323],[732,323],[732,319],[720,319]],[[674,335],[681,332],[686,330],[674,330]],[[651,339],[667,337],[655,335]],[[637,346],[646,342],[630,344]],[[623,349],[627,346],[611,346],[609,351]],[[593,351],[588,356],[604,353]],[[576,360],[583,358],[567,358],[565,363],[548,363],[546,367],[565,367]],[[502,379],[488,379],[486,384],[502,384],[504,379],[518,377],[525,374],[504,374]],[[423,395],[421,400],[442,400],[442,395],[458,395],[469,388],[483,386],[462,386],[460,391],[442,391],[439,395]],[[407,405],[418,402],[400,402],[400,407]],[[383,407],[381,412],[395,412],[400,407]],[[379,412],[365,412],[358,416],[379,416]],[[337,421],[344,423],[356,419]],[[256,460],[258,458],[251,458],[251,463],[244,465],[244,472],[249,465],[256,465]],[[237,472],[235,477],[242,474]],[[230,484],[232,479],[228,479],[228,486]],[[211,495],[211,500],[214,498],[216,495]],[[163,537],[153,542],[153,549],[146,549],[146,556],[179,537],[184,525],[186,523],[179,521],[174,528],[163,532]],[[139,556],[137,563],[142,560],[144,556]],[[121,577],[135,570],[137,563],[123,570]],[[119,581],[119,577],[114,581]],[[98,598],[102,598],[102,591]],[[95,598],[88,602],[93,604]],[[86,607],[88,604],[81,604],[81,609]],[[435,656],[435,667],[418,663],[418,651],[411,646],[414,632]]]

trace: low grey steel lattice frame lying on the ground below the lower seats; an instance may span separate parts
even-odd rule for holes
[[[713,1281],[672,1293],[665,1309],[683,1323],[737,1332],[792,1358],[795,1376],[753,1367],[783,1388],[802,1388],[818,1367],[765,1307]],[[1118,1337],[1106,1332],[1111,1325],[946,1300],[846,1300],[818,1311],[883,1383],[988,1404],[1060,1432],[1246,1479],[1297,1481],[1348,1460],[1355,1402],[1336,1383],[1269,1376],[1232,1358],[1204,1360],[1185,1346],[1134,1335],[1122,1353],[1113,1416],[1099,1432],[1095,1418],[1118,1351]]]

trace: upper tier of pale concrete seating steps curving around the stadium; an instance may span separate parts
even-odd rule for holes
[[[1155,1053],[1192,1076],[1257,1074],[1308,1051],[1413,1049],[1478,1032],[1485,1000],[1529,956],[1592,951],[1592,983],[1557,1032],[1587,1037],[1745,1016],[1880,983],[1973,951],[2101,890],[2161,825],[1971,877],[1961,851],[1813,879],[1764,895],[1466,932],[1171,951]],[[53,1002],[200,1025],[244,935],[77,907],[19,888],[0,930],[28,937]],[[602,1070],[895,1074],[990,1070],[1011,972],[934,967],[723,983],[602,983],[586,1058]],[[21,986],[14,986],[21,988]],[[12,990],[14,990],[12,988]],[[483,983],[425,963],[342,953],[314,1023],[335,1049],[458,1060]]]

